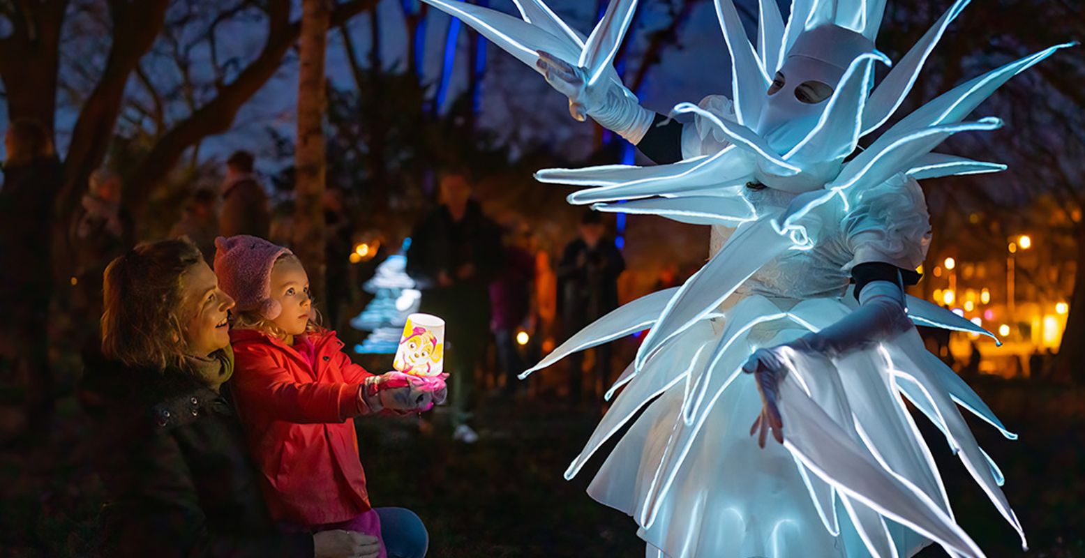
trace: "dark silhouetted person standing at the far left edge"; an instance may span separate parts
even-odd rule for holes
[[[48,362],[49,302],[53,290],[53,203],[64,180],[52,132],[17,118],[4,137],[8,160],[0,189],[0,391],[25,393],[26,415],[0,424],[0,439],[48,429],[53,376]],[[7,404],[9,402],[0,402]]]

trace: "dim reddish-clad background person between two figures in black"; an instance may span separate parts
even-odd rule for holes
[[[505,373],[505,394],[512,395],[520,382],[516,375],[524,371],[516,334],[531,310],[535,256],[525,250],[522,236],[508,237],[513,238],[506,240],[505,265],[489,283],[489,328],[494,332],[498,365]]]

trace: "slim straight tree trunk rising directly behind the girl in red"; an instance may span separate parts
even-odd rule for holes
[[[327,103],[328,0],[304,0],[297,76],[297,147],[294,151],[294,253],[309,274],[309,289],[324,294],[324,178],[328,169],[323,118]]]

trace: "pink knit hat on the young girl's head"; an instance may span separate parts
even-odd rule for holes
[[[238,234],[215,239],[215,275],[218,287],[237,303],[239,312],[257,310],[276,319],[282,305],[271,300],[271,268],[290,250],[258,237]]]

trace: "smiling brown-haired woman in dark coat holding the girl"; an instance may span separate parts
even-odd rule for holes
[[[224,382],[233,371],[227,313],[187,239],[141,244],[105,270],[101,355],[87,355],[81,401],[113,503],[104,556],[371,557],[376,540],[275,529]]]

